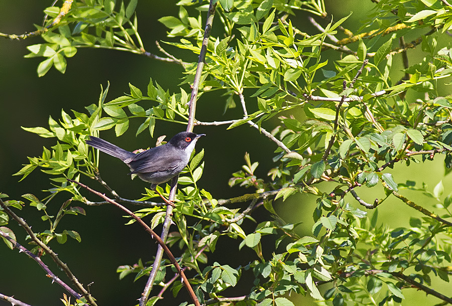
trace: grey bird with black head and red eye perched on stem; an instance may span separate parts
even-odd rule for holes
[[[171,201],[165,199],[156,190],[156,187],[174,178],[187,166],[196,141],[201,136],[205,136],[205,134],[180,132],[174,135],[166,144],[147,149],[139,154],[94,136],[89,136],[89,140],[85,140],[85,142],[123,161],[131,170],[130,175],[135,174],[143,181],[151,183],[151,189],[165,203],[174,206]]]

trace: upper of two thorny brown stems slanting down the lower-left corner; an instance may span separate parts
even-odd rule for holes
[[[71,272],[69,267],[61,261],[60,258],[58,258],[58,255],[47,245],[45,245],[41,240],[36,237],[35,233],[32,231],[31,227],[25,222],[24,219],[20,218],[18,215],[16,215],[6,204],[5,202],[0,199],[0,206],[3,208],[3,210],[14,220],[16,220],[19,225],[21,225],[25,231],[30,235],[30,238],[40,247],[42,248],[47,254],[50,255],[52,260],[58,265],[58,267],[63,270],[64,273],[66,273],[67,277],[71,280],[71,282],[74,284],[74,286],[81,292],[81,295],[86,297],[88,302],[93,305],[97,306],[96,302],[94,301],[94,298],[91,296],[91,294],[83,287],[83,285],[78,281],[78,279],[75,277],[75,275]]]

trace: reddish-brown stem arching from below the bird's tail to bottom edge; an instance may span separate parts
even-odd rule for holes
[[[151,237],[153,239],[155,239],[158,244],[163,248],[163,250],[165,251],[166,255],[168,256],[168,258],[170,259],[171,263],[174,265],[174,267],[176,268],[177,272],[182,276],[183,279],[183,284],[185,286],[185,288],[187,289],[188,293],[190,294],[190,298],[192,299],[193,303],[196,306],[200,306],[199,301],[193,291],[193,288],[191,287],[190,283],[188,282],[187,277],[185,276],[184,272],[182,271],[182,268],[180,267],[179,263],[177,262],[176,258],[174,257],[174,255],[171,253],[170,249],[168,248],[168,246],[165,244],[165,242],[143,221],[141,220],[139,217],[137,217],[137,215],[135,215],[133,212],[131,212],[130,210],[128,210],[127,208],[125,208],[124,206],[122,206],[121,204],[109,199],[108,197],[106,197],[105,195],[101,194],[100,192],[97,192],[91,188],[89,188],[88,186],[74,181],[74,180],[70,180],[67,179],[69,182],[72,182],[74,184],[77,184],[83,188],[85,188],[86,190],[92,192],[93,194],[99,196],[100,198],[104,199],[105,201],[107,201],[110,204],[115,205],[116,207],[118,207],[119,209],[121,209],[122,211],[124,211],[126,214],[128,214],[129,216],[131,216],[132,218],[135,219],[135,221],[138,222],[138,224],[140,224],[144,230],[151,235]],[[1,200],[0,200],[1,201]],[[171,207],[171,206],[168,206]]]

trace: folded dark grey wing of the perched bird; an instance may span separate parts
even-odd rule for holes
[[[180,165],[181,158],[173,148],[157,146],[135,155],[125,163],[133,170],[131,174],[151,173],[173,171]]]

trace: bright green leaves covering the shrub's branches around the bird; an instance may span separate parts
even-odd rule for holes
[[[39,65],[38,74],[44,75],[52,65],[64,73],[64,57],[75,55],[81,47],[143,54],[134,15],[136,3],[74,2],[61,24],[42,35],[47,43],[28,47],[30,56],[47,58]],[[391,169],[397,163],[409,167],[420,160],[429,162],[439,154],[445,155],[446,174],[452,166],[452,98],[439,86],[452,75],[452,49],[438,46],[452,27],[452,7],[439,0],[375,2],[374,10],[353,35],[343,28],[348,17],[333,21],[321,0],[218,3],[214,28],[215,33],[222,33],[208,39],[198,96],[217,91],[227,97],[225,105],[217,107],[227,111],[237,107],[239,100],[244,113],[232,121],[211,118],[212,122],[195,124],[259,129],[263,137],[275,142],[275,167],[266,169],[268,178],[258,178],[255,171],[259,164],[252,163],[246,154],[246,165],[233,174],[230,185],[253,187],[256,192],[230,200],[217,200],[197,186],[203,171],[214,171],[204,168],[203,151],[194,155],[179,178],[181,188],[173,219],[177,232],[168,243],[180,249],[180,265],[195,271],[190,281],[200,302],[228,301],[223,291],[240,284],[244,273],[253,273],[256,280],[241,284],[248,294],[240,301],[231,299],[237,305],[293,305],[288,297],[293,292],[334,306],[383,305],[401,303],[410,287],[450,301],[450,296],[439,296],[432,282],[435,278],[449,281],[452,223],[447,220],[452,217],[452,194],[442,198],[442,184],[429,191],[419,187],[420,182],[400,183]],[[168,28],[167,44],[186,50],[187,55],[198,55],[207,4],[182,0],[177,5],[177,17],[160,19]],[[58,12],[55,8],[46,10],[50,16]],[[297,18],[304,12],[320,17],[324,28],[317,26],[316,34],[301,31]],[[404,42],[408,34],[419,33],[411,43]],[[337,40],[335,35],[343,39]],[[404,75],[398,77],[395,62],[416,46],[422,58],[403,61]],[[334,52],[325,55],[328,50]],[[191,85],[196,63],[185,64],[182,85]],[[130,94],[110,101],[107,91],[108,87],[101,92],[98,104],[87,106],[85,113],[63,110],[61,119],[49,119],[48,128],[24,127],[42,137],[56,138],[54,146],[44,147],[40,157],[29,158],[30,163],[16,174],[24,179],[39,168],[51,176],[53,187],[46,199],[24,195],[42,212],[43,220],[50,222],[49,230],[38,234],[45,244],[53,238],[64,243],[67,236],[81,239],[75,231],[57,233],[55,228],[65,214],[85,214],[83,208],[69,207],[71,201],[92,204],[67,179],[101,181],[99,157],[84,143],[89,135],[114,128],[121,136],[131,120],[139,120],[141,125],[133,132],[146,131],[153,136],[159,120],[188,121],[189,94],[182,87],[180,93],[170,94],[151,80],[143,94],[130,84]],[[295,116],[294,110],[302,111],[302,117]],[[267,132],[264,127],[275,118],[279,123]],[[238,147],[246,151],[247,144]],[[319,187],[321,182],[328,183]],[[356,193],[378,186],[383,186],[386,198],[373,204]],[[406,189],[429,194],[441,204],[432,213],[399,194]],[[67,193],[68,201],[56,217],[48,215],[47,202],[61,192]],[[160,192],[168,194],[169,186]],[[273,208],[275,199],[285,201],[297,193],[316,197],[316,207],[308,213],[313,216],[312,233],[305,236],[296,231],[298,224],[287,224]],[[356,199],[353,203],[345,200],[349,193]],[[410,227],[391,228],[378,219],[378,210],[372,217],[368,215],[368,209],[384,205],[390,196],[425,216],[411,217]],[[153,191],[146,190],[141,201],[155,197]],[[236,202],[251,204],[245,211],[228,207]],[[15,208],[23,205],[21,201],[5,203]],[[364,207],[356,208],[358,205]],[[269,211],[272,218],[247,233],[243,224],[255,222],[252,214],[258,207]],[[152,206],[136,213],[140,217],[151,215],[154,228],[163,222],[165,209]],[[8,215],[0,211],[0,225],[8,223]],[[273,236],[275,244],[264,252],[265,236]],[[256,257],[250,257],[243,267],[210,262],[208,253],[229,239],[241,241],[240,249],[252,248]],[[151,269],[149,263],[140,261],[121,266],[118,272],[121,278],[135,273],[138,279]],[[162,262],[155,284],[164,284],[172,274],[168,263]],[[182,287],[180,281],[173,281],[173,294]],[[157,298],[150,302],[159,303]]]

